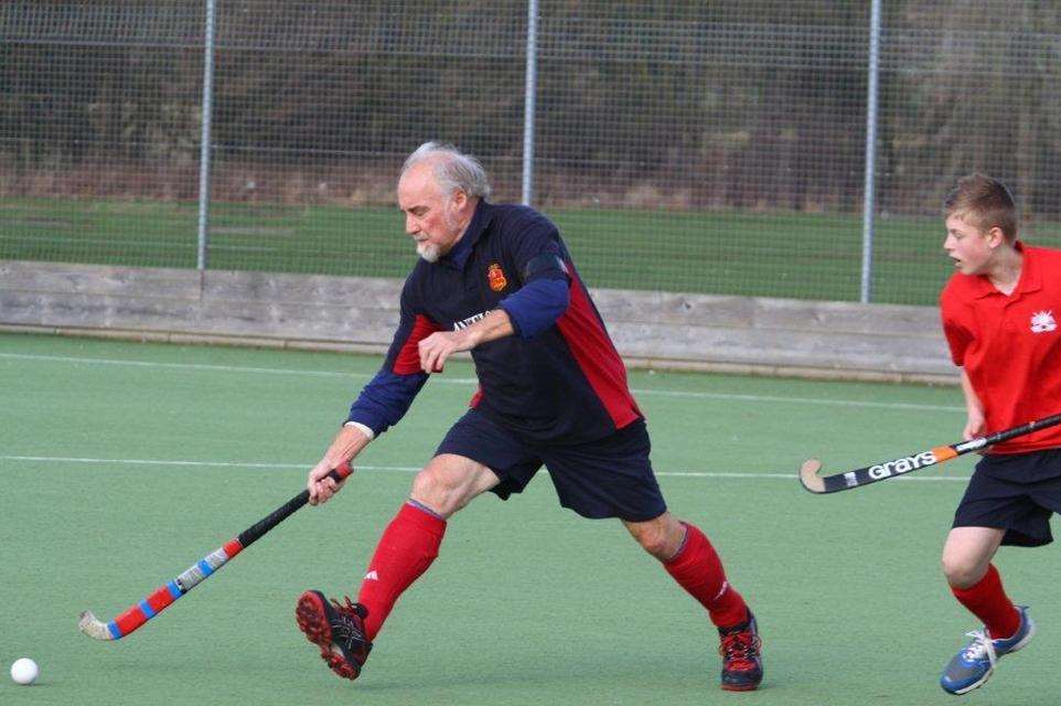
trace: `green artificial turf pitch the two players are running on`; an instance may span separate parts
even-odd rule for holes
[[[837,472],[951,442],[960,392],[631,373],[671,510],[699,524],[755,610],[765,681],[718,688],[706,613],[617,521],[560,509],[543,471],[483,496],[400,599],[362,677],[336,678],[293,621],[306,588],[356,593],[414,471],[473,392],[428,383],[332,502],[307,507],[119,642],[109,620],[302,488],[379,359],[0,335],[0,663],[41,664],[7,704],[1052,704],[1061,686],[1055,549],[997,565],[1040,632],[983,689],[939,671],[977,628],[939,552],[973,461],[829,496]]]

